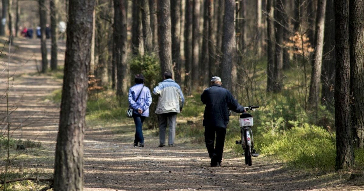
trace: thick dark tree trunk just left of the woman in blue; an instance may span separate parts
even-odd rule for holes
[[[114,30],[115,50],[113,50],[113,54],[116,54],[116,96],[119,98],[128,92],[127,7],[127,0],[114,0],[114,28],[116,31]]]

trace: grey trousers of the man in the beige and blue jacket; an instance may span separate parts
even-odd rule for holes
[[[159,143],[165,144],[166,142],[166,129],[167,129],[167,121],[169,124],[169,133],[168,133],[168,144],[173,145],[174,136],[176,134],[176,122],[177,113],[163,113],[159,115]]]

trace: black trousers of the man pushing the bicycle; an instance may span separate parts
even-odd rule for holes
[[[216,143],[214,145],[216,134]],[[216,161],[221,162],[222,152],[224,150],[226,128],[216,126],[205,126],[205,143],[209,157],[216,155]]]

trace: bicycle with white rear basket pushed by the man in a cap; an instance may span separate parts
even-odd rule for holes
[[[245,107],[246,111],[256,111],[254,108],[258,108],[259,106],[253,106],[249,105],[248,107]],[[254,141],[253,141],[253,132],[252,132],[252,126],[253,126],[253,116],[250,115],[250,113],[242,113],[239,118],[239,124],[240,124],[240,134],[241,134],[241,140],[235,141],[236,144],[241,144],[245,157],[245,164],[252,166],[252,157],[258,157],[259,153],[256,153],[256,150],[254,149]]]

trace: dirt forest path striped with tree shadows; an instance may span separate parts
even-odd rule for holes
[[[1,39],[2,44],[4,40]],[[61,41],[59,65],[64,63],[64,51],[65,42]],[[15,76],[9,92],[9,103],[16,107],[11,113],[11,134],[14,138],[42,143],[40,157],[19,157],[12,162],[12,169],[21,167],[50,176],[60,106],[47,96],[62,88],[62,79],[37,73],[36,65],[41,65],[39,39],[16,38],[11,54],[5,54],[1,62],[10,60],[10,74]],[[7,73],[3,68],[0,72],[0,90],[4,92]],[[0,99],[1,109],[5,105],[5,99]],[[364,190],[362,177],[350,179],[345,173],[293,171],[266,156],[253,158],[253,166],[247,166],[244,157],[225,151],[222,166],[210,167],[205,145],[177,137],[174,147],[159,148],[158,137],[150,130],[144,133],[145,147],[134,147],[132,120],[116,127],[113,124],[87,126],[85,133],[85,191]],[[1,166],[3,171],[4,162]]]

